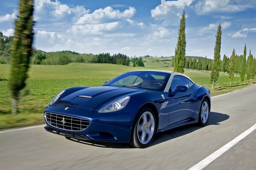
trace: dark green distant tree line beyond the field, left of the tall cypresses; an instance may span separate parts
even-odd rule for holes
[[[6,37],[0,32],[0,64],[8,64],[11,62],[11,42],[13,37]],[[131,65],[134,67],[145,67],[141,57],[130,59],[125,54],[79,54],[74,51],[57,51],[44,52],[32,48],[32,56],[30,61],[35,65],[63,65],[70,62],[81,63],[109,63],[117,65]]]

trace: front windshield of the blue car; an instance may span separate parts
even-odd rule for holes
[[[164,91],[170,75],[158,71],[131,71],[106,82],[104,85]]]

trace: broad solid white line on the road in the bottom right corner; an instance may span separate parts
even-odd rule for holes
[[[241,135],[237,136],[235,139],[233,139],[232,141],[228,142],[227,144],[225,144],[223,147],[219,148],[218,150],[216,150],[214,153],[212,153],[211,155],[207,156],[205,159],[203,159],[202,161],[200,161],[198,164],[196,164],[195,166],[189,168],[189,170],[201,170],[204,167],[206,167],[208,164],[210,164],[212,161],[214,161],[216,158],[218,158],[219,156],[221,156],[223,153],[225,153],[227,150],[230,149],[230,147],[233,147],[235,144],[237,144],[239,141],[241,141],[242,139],[244,139],[247,135],[249,135],[251,132],[253,132],[253,130],[256,129],[256,124],[254,124],[252,127],[250,127],[249,129],[247,129],[246,131],[244,131]]]

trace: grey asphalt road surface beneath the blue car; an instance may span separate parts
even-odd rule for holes
[[[256,123],[256,85],[212,98],[206,127],[187,125],[157,135],[150,147],[75,142],[44,127],[0,131],[1,170],[187,170]],[[206,170],[256,170],[256,130]]]

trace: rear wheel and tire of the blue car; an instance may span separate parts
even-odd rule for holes
[[[209,102],[207,99],[203,99],[200,107],[199,116],[198,116],[198,124],[200,126],[205,126],[209,120],[209,116],[210,116]]]

